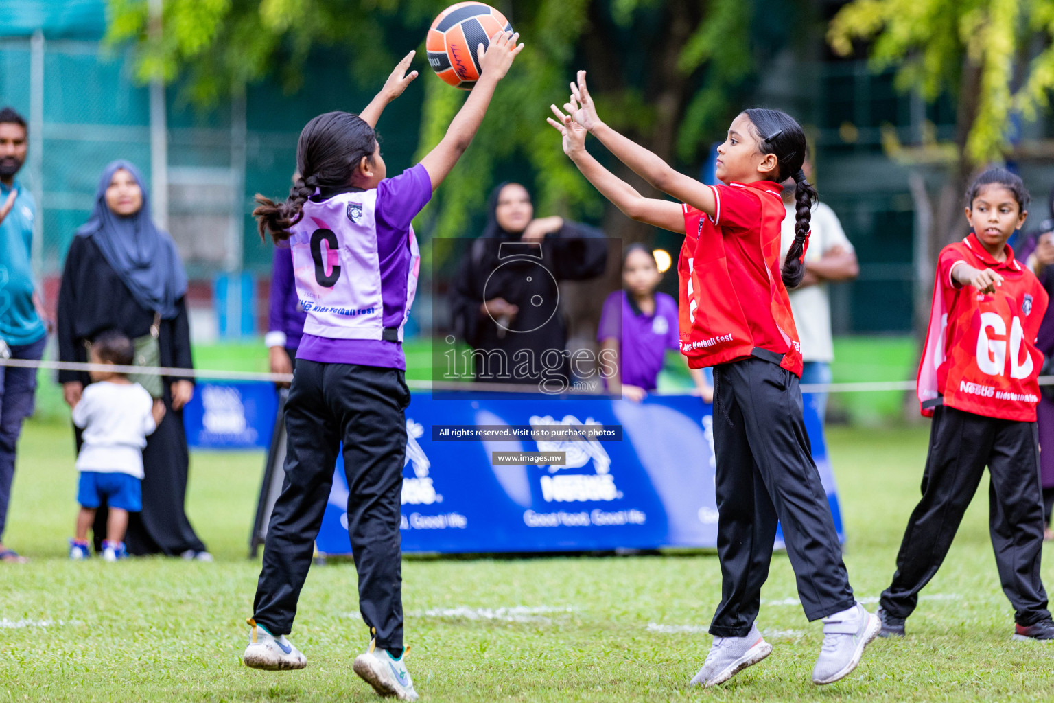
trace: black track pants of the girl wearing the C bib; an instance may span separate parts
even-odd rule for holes
[[[293,627],[344,442],[359,611],[376,628],[378,647],[403,646],[399,520],[409,403],[397,369],[297,362],[286,404],[286,480],[254,603],[253,617],[272,633]]]

